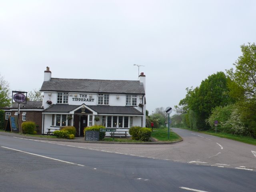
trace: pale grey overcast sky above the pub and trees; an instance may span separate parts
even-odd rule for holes
[[[233,67],[256,42],[255,0],[0,0],[0,74],[10,90],[54,78],[138,80],[147,110]]]

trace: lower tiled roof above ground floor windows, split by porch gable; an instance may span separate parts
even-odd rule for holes
[[[54,104],[49,108],[43,110],[43,112],[64,112],[68,113],[80,105],[66,105],[66,104]],[[92,110],[98,112],[98,114],[130,114],[130,115],[143,115],[142,112],[136,110],[132,106],[101,106],[101,105],[91,105],[88,106]]]

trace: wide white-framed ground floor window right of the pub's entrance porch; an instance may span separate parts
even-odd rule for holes
[[[106,126],[107,119],[107,126]],[[131,128],[132,117],[131,116],[103,116],[102,125],[106,127],[114,128]]]

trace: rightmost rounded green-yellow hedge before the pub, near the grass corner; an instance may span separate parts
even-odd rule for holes
[[[151,137],[151,129],[146,127],[134,126],[129,130],[132,139],[139,141],[148,141]]]

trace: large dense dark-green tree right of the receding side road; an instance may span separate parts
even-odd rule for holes
[[[186,97],[180,101],[180,108],[188,112],[189,127],[198,130],[207,130],[206,118],[211,114],[211,110],[216,106],[226,106],[234,103],[229,95],[227,76],[224,72],[217,72],[203,80],[199,87],[194,90],[186,89]],[[177,109],[177,108],[176,108]]]

